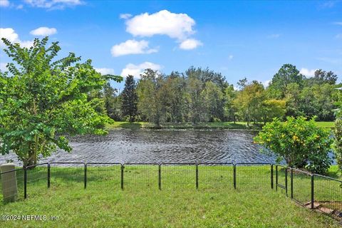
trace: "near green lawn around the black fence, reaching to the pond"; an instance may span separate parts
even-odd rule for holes
[[[28,199],[0,205],[1,214],[58,216],[56,221],[2,221],[4,227],[339,227],[323,214],[299,207],[282,190],[271,190],[269,166],[161,167],[126,165],[120,190],[120,165],[89,165],[87,189],[81,168],[28,170]],[[281,175],[281,173],[279,173]],[[18,178],[22,175],[19,172]],[[279,177],[281,179],[281,177]],[[297,178],[297,177],[296,177]],[[19,179],[22,181],[22,179]],[[301,185],[306,189],[306,184]],[[22,194],[19,183],[19,193]],[[330,197],[336,197],[330,195]],[[21,197],[22,198],[22,197]],[[306,199],[304,199],[306,200]]]

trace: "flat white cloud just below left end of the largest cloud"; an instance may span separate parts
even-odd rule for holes
[[[155,53],[157,48],[149,48],[148,41],[128,40],[113,46],[110,50],[112,56],[125,56],[130,54]]]

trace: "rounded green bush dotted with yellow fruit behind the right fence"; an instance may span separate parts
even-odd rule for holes
[[[308,121],[304,117],[288,117],[285,122],[274,118],[264,125],[254,142],[264,146],[264,151],[284,158],[290,167],[323,174],[332,162],[328,152],[333,138],[329,130],[316,125],[314,118]]]

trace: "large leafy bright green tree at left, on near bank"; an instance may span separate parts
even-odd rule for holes
[[[101,126],[110,119],[94,110],[88,94],[120,76],[102,76],[74,53],[56,59],[61,48],[47,46],[48,37],[31,48],[2,41],[13,62],[0,71],[1,154],[13,151],[24,166],[33,165],[56,147],[70,152],[66,135],[105,133]]]

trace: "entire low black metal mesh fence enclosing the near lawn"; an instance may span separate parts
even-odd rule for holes
[[[175,188],[207,189],[274,188],[311,209],[342,217],[342,181],[270,163],[103,163],[50,162],[2,172],[0,178],[16,178],[16,199],[42,192],[41,186],[94,187],[118,190]],[[275,177],[274,177],[275,176]],[[1,191],[4,190],[1,186]],[[0,195],[2,197],[2,194]],[[1,199],[1,198],[0,198]],[[3,199],[6,202],[6,199]]]

